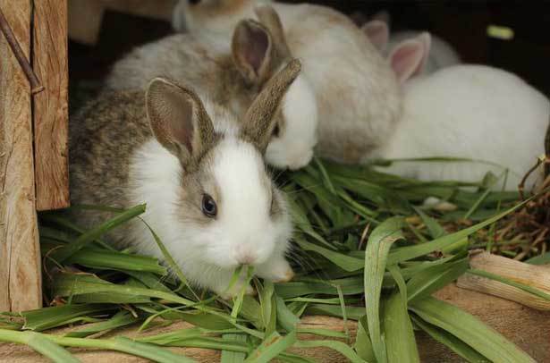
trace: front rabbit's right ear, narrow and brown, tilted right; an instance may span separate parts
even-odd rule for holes
[[[300,70],[301,63],[298,59],[288,63],[267,82],[266,87],[254,99],[244,115],[241,137],[254,144],[262,154],[266,152],[267,144],[275,129],[277,121],[275,114],[286,91],[300,74]]]

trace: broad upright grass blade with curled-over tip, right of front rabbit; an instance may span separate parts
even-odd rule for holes
[[[380,292],[384,281],[388,252],[394,241],[402,238],[404,221],[401,217],[385,220],[370,234],[365,252],[365,305],[368,332],[377,361],[387,362],[385,343],[380,328]]]

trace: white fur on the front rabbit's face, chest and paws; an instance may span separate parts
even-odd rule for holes
[[[134,190],[130,203],[147,203],[144,219],[186,277],[217,293],[228,287],[244,255],[262,277],[284,279],[292,271],[284,259],[292,231],[290,217],[285,214],[279,220],[270,218],[271,181],[261,156],[250,144],[231,136],[233,128],[227,130],[229,136],[213,150],[212,173],[221,200],[217,218],[210,224],[194,224],[178,216],[176,201],[182,191],[182,168],[156,139],[139,148],[130,165]],[[162,259],[144,225],[136,224],[131,232],[140,253]]]

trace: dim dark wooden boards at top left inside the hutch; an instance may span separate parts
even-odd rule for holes
[[[172,20],[177,0],[69,0],[69,37],[93,46],[106,10],[165,21]]]

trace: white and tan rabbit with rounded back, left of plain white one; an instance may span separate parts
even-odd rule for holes
[[[182,0],[174,11],[173,26],[227,38],[240,19],[253,17],[258,4],[264,3],[279,14],[286,43],[302,61],[303,74],[314,89],[317,155],[359,162],[393,131],[401,114],[401,95],[385,59],[347,16],[312,4]]]

